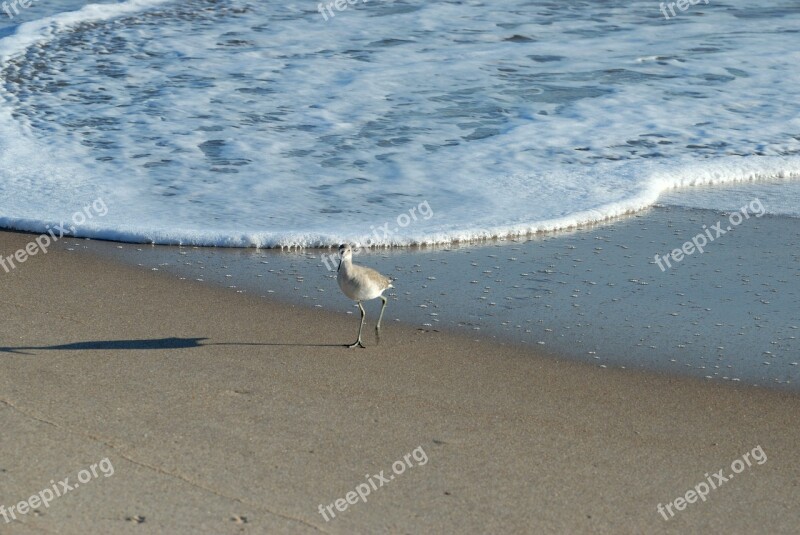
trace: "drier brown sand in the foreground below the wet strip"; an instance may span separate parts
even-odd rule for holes
[[[350,350],[352,316],[61,246],[0,271],[0,295],[0,504],[114,467],[0,533],[797,532],[796,395],[394,323]],[[656,511],[757,446],[706,502]]]

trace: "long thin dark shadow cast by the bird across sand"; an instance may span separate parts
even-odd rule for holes
[[[291,344],[291,343],[251,343],[251,342],[210,342],[208,338],[152,338],[144,340],[96,340],[74,342],[52,346],[0,347],[0,353],[30,355],[27,351],[125,351],[154,349],[192,349],[207,346],[297,346],[297,347],[342,347],[343,344]],[[26,351],[27,350],[27,351]]]

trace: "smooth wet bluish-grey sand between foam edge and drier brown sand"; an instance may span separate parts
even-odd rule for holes
[[[397,279],[388,294],[386,320],[393,323],[477,334],[599,367],[797,392],[800,295],[792,251],[800,246],[800,220],[750,218],[665,271],[653,258],[724,214],[661,206],[525,240],[365,250],[355,261]],[[179,280],[314,309],[357,310],[339,294],[324,249],[72,242]],[[366,306],[369,319],[375,312]]]

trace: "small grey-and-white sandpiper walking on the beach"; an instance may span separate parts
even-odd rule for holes
[[[380,297],[383,301],[381,306],[381,315],[378,316],[378,324],[375,327],[375,334],[378,336],[378,343],[381,340],[381,319],[383,318],[383,310],[386,308],[386,298],[383,292],[392,286],[392,280],[384,277],[372,268],[358,266],[353,264],[353,250],[349,245],[339,246],[339,270],[336,273],[336,282],[339,283],[339,288],[342,289],[344,295],[358,303],[358,308],[361,310],[361,326],[358,328],[358,340],[348,347],[365,347],[361,341],[361,331],[364,329],[364,322],[367,315],[364,312],[364,307],[361,301],[369,301]]]

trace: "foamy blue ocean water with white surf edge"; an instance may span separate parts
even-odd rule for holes
[[[649,0],[317,8],[0,11],[0,226],[41,232],[102,199],[71,232],[446,244],[602,221],[674,188],[733,209],[725,188],[745,182],[800,217],[795,1],[668,20]]]

